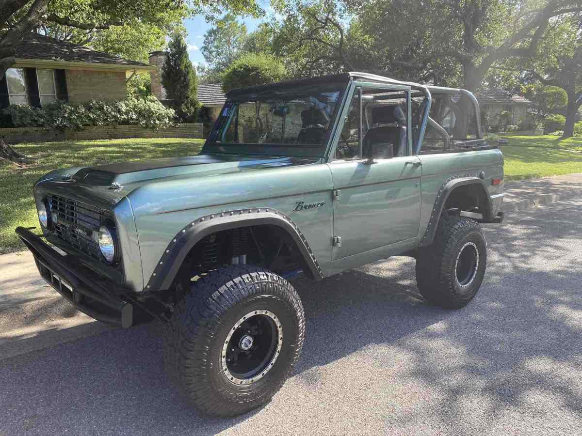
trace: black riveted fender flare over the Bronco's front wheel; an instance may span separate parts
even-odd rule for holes
[[[285,230],[296,243],[311,276],[321,280],[323,274],[315,255],[297,224],[279,210],[272,208],[237,209],[199,217],[187,224],[172,238],[157,266],[145,284],[144,291],[165,290],[171,287],[184,259],[205,236],[232,228],[272,224]]]

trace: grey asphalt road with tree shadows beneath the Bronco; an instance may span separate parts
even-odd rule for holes
[[[261,410],[187,408],[148,325],[2,360],[0,435],[582,434],[582,201],[521,214],[488,227],[462,310],[426,305],[406,258],[296,283],[303,358]]]

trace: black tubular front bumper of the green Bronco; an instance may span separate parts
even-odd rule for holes
[[[17,227],[15,231],[33,253],[42,278],[76,309],[104,323],[132,326],[133,305],[120,296],[129,290],[95,273],[73,256],[60,255],[26,228]]]

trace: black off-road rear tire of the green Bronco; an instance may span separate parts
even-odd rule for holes
[[[476,267],[462,285],[457,275],[464,250],[475,251]],[[471,255],[471,253],[469,253]],[[471,264],[472,265],[472,264]],[[477,295],[487,266],[487,242],[481,225],[470,218],[443,212],[431,245],[418,251],[416,283],[420,294],[435,305],[460,309]],[[464,283],[464,281],[463,281]]]

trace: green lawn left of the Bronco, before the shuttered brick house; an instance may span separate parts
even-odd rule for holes
[[[0,253],[22,249],[14,229],[38,227],[33,183],[54,169],[80,165],[191,156],[204,141],[187,138],[136,138],[107,141],[63,141],[15,145],[17,151],[39,158],[26,169],[0,160]]]

